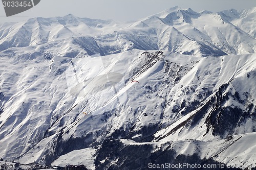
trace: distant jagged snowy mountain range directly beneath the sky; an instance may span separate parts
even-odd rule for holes
[[[255,53],[255,10],[197,13],[170,8],[134,22],[64,17],[0,26],[0,51],[36,47],[59,56],[108,55],[134,48],[195,56]],[[56,47],[58,51],[56,51]]]

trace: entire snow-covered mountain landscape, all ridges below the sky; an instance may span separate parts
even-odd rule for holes
[[[255,15],[174,7],[124,23],[71,14],[5,23],[0,157],[255,167]]]

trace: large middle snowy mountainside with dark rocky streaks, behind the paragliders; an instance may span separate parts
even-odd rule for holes
[[[96,69],[90,64],[105,59],[109,63],[106,67]],[[208,143],[219,142],[216,136],[226,138],[255,131],[255,54],[200,58],[132,50],[72,59],[74,68],[72,60],[66,57],[21,55],[2,56],[1,60],[9,63],[1,67],[4,107],[0,115],[0,136],[1,143],[5,144],[0,147],[6,148],[1,150],[5,158],[18,157],[23,163],[49,163],[57,155],[97,145],[105,137],[119,133],[126,134],[124,139],[137,142],[155,142],[154,136],[161,136],[157,141],[163,143],[185,139]],[[116,95],[107,89],[107,93],[103,90],[91,96],[87,93],[72,96],[69,90],[76,85],[77,78],[68,76],[72,73],[69,67],[70,71],[76,69],[80,82],[90,80],[93,72],[104,74],[104,70],[113,70],[123,75],[124,83],[116,86]],[[139,83],[129,82],[132,79]],[[19,80],[18,84],[13,80]],[[246,82],[246,86],[239,86],[241,81]],[[119,101],[114,101],[117,98]],[[113,102],[106,108],[102,103],[111,101],[109,99]],[[90,107],[95,108],[95,113],[84,115],[82,112]],[[218,113],[225,109],[229,110]],[[226,114],[231,116],[232,112],[246,118],[225,120]],[[224,117],[220,118],[221,115]],[[226,123],[230,129],[225,128]],[[174,125],[179,128],[169,133],[169,127]],[[145,130],[147,128],[151,131]],[[20,145],[13,150],[17,148],[16,139]],[[216,153],[217,149],[212,152]]]

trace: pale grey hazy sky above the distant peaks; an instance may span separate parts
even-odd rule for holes
[[[11,17],[6,17],[1,3],[0,23],[33,17],[65,16],[70,13],[78,17],[94,19],[137,20],[174,6],[191,8],[196,12],[202,10],[218,12],[230,8],[256,7],[256,0],[41,0],[34,8]]]

